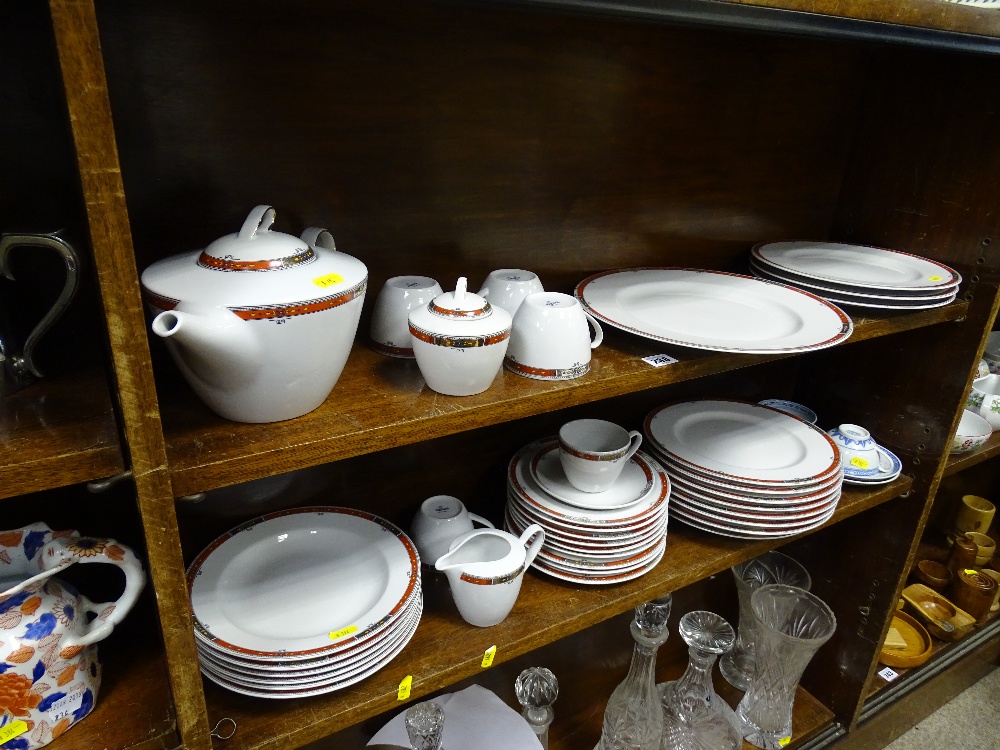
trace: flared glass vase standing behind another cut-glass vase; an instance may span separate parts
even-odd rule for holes
[[[812,579],[798,562],[781,552],[765,552],[760,557],[734,565],[736,593],[740,601],[740,622],[736,645],[719,660],[719,671],[733,687],[744,692],[750,687],[754,665],[754,617],[750,611],[750,597],[754,591],[768,583],[784,583],[809,590]]]

